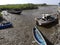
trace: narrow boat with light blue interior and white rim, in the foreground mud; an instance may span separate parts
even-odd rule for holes
[[[47,45],[45,39],[43,38],[41,32],[39,32],[37,27],[33,28],[33,37],[39,45]]]

